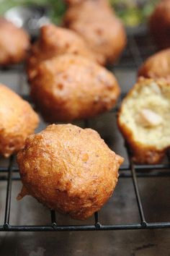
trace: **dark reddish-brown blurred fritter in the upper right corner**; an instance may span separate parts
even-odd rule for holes
[[[170,1],[158,3],[150,18],[150,29],[159,48],[170,47]]]

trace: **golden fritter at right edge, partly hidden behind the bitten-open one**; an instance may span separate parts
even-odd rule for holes
[[[138,71],[138,76],[170,80],[170,49],[149,57]]]

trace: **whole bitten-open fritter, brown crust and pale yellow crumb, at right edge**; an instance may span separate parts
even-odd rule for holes
[[[159,163],[170,146],[170,83],[140,78],[122,101],[118,126],[137,163]]]

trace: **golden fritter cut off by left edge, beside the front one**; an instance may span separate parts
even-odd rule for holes
[[[22,149],[38,121],[29,103],[0,84],[0,155],[8,157]]]

